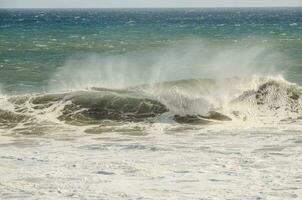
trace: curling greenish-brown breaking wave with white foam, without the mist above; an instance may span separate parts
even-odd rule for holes
[[[1,99],[1,128],[91,126],[109,122],[213,125],[278,123],[302,116],[302,90],[282,78],[189,79],[126,89],[87,90]]]

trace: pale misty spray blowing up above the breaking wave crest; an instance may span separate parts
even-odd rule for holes
[[[85,54],[70,58],[49,81],[50,91],[89,87],[125,88],[181,79],[221,79],[280,73],[282,56],[272,46],[203,40],[119,55]]]

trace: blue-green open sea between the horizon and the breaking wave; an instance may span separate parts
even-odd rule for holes
[[[251,52],[253,48],[262,50]],[[170,50],[170,56],[165,54],[166,49]],[[221,49],[225,56],[215,57]],[[228,55],[228,49],[237,52]],[[238,59],[241,52],[247,58]],[[57,87],[62,80],[66,82],[67,72],[60,76],[62,69],[68,68],[66,65],[75,65],[77,69],[74,72],[69,66],[68,74],[77,74],[79,69],[81,74],[90,71],[82,77],[89,80],[97,79],[95,74],[102,73],[104,62],[113,62],[110,67],[106,65],[106,70],[116,72],[121,62],[127,60],[130,71],[131,65],[136,68],[129,72],[132,78],[138,73],[139,78],[148,79],[150,68],[158,64],[155,61],[165,57],[182,59],[186,53],[193,55],[185,58],[191,61],[175,65],[175,77],[170,74],[163,80],[211,78],[205,71],[198,73],[199,77],[196,73],[178,76],[183,74],[178,72],[181,67],[212,68],[213,65],[206,63],[210,57],[220,59],[215,67],[221,68],[221,74],[228,71],[224,70],[223,60],[227,59],[226,62],[234,60],[232,65],[240,70],[273,67],[287,80],[302,83],[302,9],[0,10],[0,85],[4,93],[40,92],[52,85]],[[121,62],[116,62],[119,59]],[[253,62],[254,66],[246,62]],[[167,62],[158,65],[165,69]],[[147,74],[137,72],[146,69]],[[107,73],[112,77],[114,74]],[[134,79],[134,84],[143,82],[137,81],[138,77]],[[103,84],[94,82],[96,86]]]

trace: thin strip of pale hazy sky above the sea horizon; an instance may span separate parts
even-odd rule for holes
[[[10,8],[302,6],[302,0],[0,0]]]

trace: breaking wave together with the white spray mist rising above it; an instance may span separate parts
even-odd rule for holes
[[[250,41],[196,40],[118,55],[80,55],[47,79],[47,92],[1,95],[0,131],[296,123],[301,88],[277,76],[278,65],[286,66],[282,58],[274,48]]]

